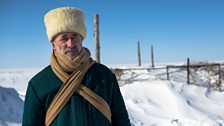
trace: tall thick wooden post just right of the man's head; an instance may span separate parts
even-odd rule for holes
[[[100,33],[99,33],[99,15],[94,16],[94,40],[96,62],[100,63]]]

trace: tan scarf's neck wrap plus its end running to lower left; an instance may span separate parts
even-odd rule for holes
[[[59,52],[53,52],[51,55],[51,67],[54,73],[63,81],[63,88],[60,88],[54,97],[50,107],[48,108],[45,125],[50,125],[64,104],[73,95],[72,91],[76,91],[86,73],[86,71],[94,64],[90,58],[88,49],[83,48],[74,60],[70,60]],[[72,73],[72,74],[69,74]],[[57,97],[60,96],[60,97]]]

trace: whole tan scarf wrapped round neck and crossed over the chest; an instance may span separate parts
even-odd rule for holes
[[[74,60],[70,60],[58,52],[52,53],[51,67],[64,84],[57,92],[47,110],[45,126],[51,124],[75,91],[96,107],[111,123],[111,111],[107,102],[81,84],[85,73],[93,64],[94,61],[90,58],[90,52],[87,48],[83,48],[80,55]],[[70,75],[69,73],[72,74]]]

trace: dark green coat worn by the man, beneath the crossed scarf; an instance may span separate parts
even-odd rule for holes
[[[40,71],[29,81],[24,103],[23,126],[44,126],[47,109],[62,84],[51,66]],[[110,69],[102,64],[94,64],[87,71],[82,84],[109,104],[113,126],[130,126],[116,77]],[[94,106],[74,93],[51,125],[110,126],[111,124]]]

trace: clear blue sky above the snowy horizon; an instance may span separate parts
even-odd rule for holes
[[[43,22],[50,9],[72,6],[86,14],[83,45],[95,57],[93,18],[100,16],[101,62],[143,64],[224,59],[223,0],[1,0],[0,68],[43,67],[52,52]]]

